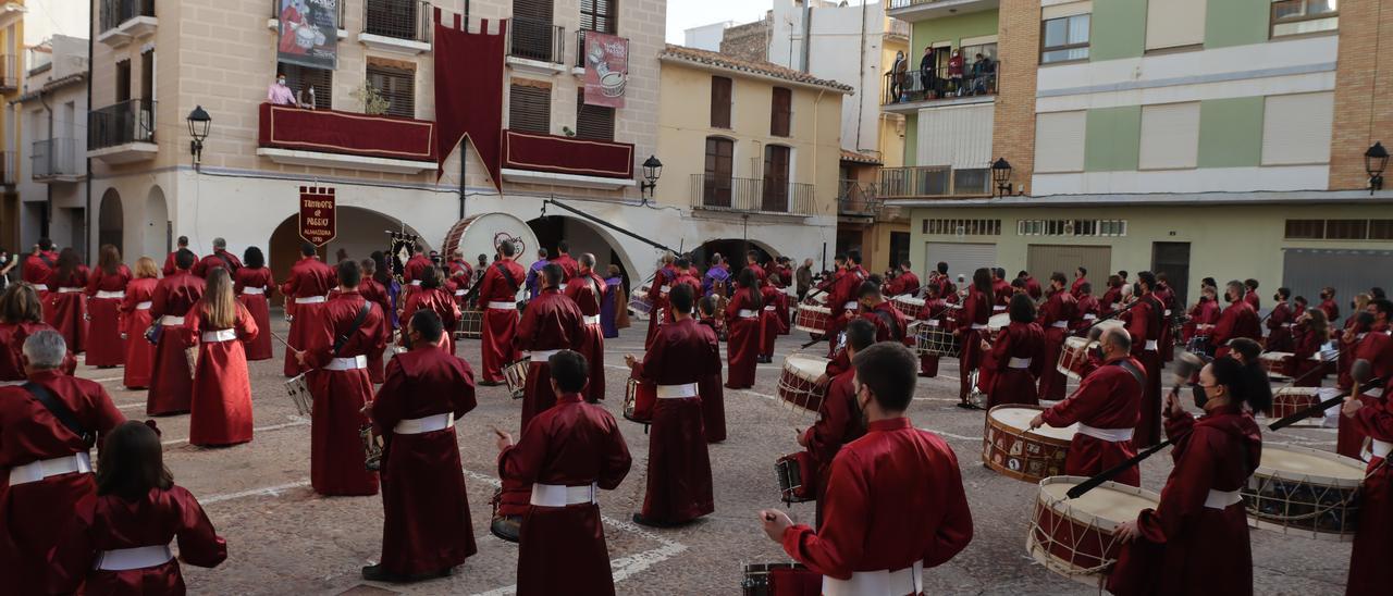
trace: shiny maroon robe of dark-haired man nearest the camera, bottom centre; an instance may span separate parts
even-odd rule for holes
[[[783,535],[784,551],[822,574],[823,585],[857,571],[937,567],[972,540],[957,457],[908,418],[875,421],[841,447],[823,514],[820,529],[800,524]]]

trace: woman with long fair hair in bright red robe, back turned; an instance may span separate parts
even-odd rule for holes
[[[224,267],[208,272],[203,297],[184,316],[184,343],[198,350],[188,441],[231,446],[252,440],[252,384],[242,345],[260,333],[233,295]]]

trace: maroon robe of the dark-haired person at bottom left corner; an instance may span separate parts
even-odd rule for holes
[[[92,570],[85,595],[184,593],[180,561],[198,567],[217,567],[227,560],[227,540],[213,529],[208,514],[188,490],[171,486],[150,489],[135,501],[116,494],[96,497],[96,511],[88,539],[93,549],[117,550],[164,546],[178,539],[178,558],[156,567],[127,571]]]

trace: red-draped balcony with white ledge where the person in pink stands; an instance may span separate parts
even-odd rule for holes
[[[276,163],[419,174],[437,167],[435,123],[260,104],[256,155]]]

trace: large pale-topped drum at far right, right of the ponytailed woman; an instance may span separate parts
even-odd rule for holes
[[[1262,462],[1241,490],[1248,525],[1348,542],[1358,519],[1364,462],[1298,446],[1262,446]]]

